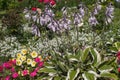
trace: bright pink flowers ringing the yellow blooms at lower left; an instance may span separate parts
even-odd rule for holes
[[[22,76],[29,75],[30,77],[37,76],[37,72],[40,70],[40,68],[43,67],[44,62],[41,61],[40,58],[35,58],[34,61],[37,63],[37,66],[35,69],[33,69],[32,72],[29,73],[29,70],[24,69],[21,71]],[[4,70],[9,70],[10,75],[7,75],[5,78],[3,76],[0,76],[0,80],[10,80],[11,78],[16,79],[20,77],[20,74],[15,70],[16,67],[16,60],[9,60],[8,62],[3,63],[0,65],[0,74],[4,74]]]

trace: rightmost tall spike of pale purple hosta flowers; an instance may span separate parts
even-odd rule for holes
[[[113,19],[113,12],[114,12],[114,7],[110,3],[108,7],[106,7],[106,24],[111,23]]]

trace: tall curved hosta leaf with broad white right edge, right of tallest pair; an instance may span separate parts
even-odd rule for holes
[[[101,62],[101,56],[100,53],[96,49],[90,49],[90,53],[93,57],[93,65],[97,66]]]

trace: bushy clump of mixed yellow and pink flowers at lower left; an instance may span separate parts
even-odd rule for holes
[[[36,51],[22,49],[13,59],[0,66],[1,79],[36,79],[44,61]]]

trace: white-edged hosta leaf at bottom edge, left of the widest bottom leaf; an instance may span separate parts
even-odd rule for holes
[[[66,80],[75,80],[75,78],[78,76],[78,74],[79,74],[79,69],[77,69],[77,70],[73,70],[73,69],[70,69],[69,71],[68,71],[68,74],[67,74],[67,78],[66,78]]]

